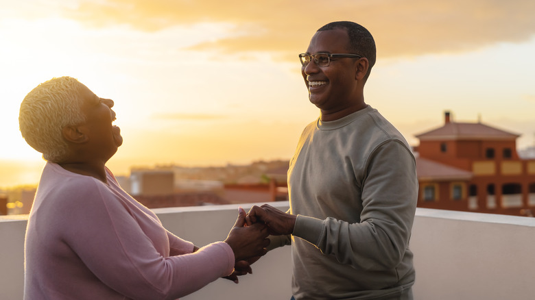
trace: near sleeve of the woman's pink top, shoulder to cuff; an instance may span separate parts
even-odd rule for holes
[[[193,244],[169,238],[173,252],[164,257],[124,203],[96,182],[64,201],[64,242],[104,284],[131,299],[177,299],[233,271],[235,258],[225,242],[193,251]],[[156,222],[154,220],[154,222]],[[161,226],[159,223],[156,226]],[[160,238],[169,232],[162,229]],[[190,249],[191,248],[191,249]]]

